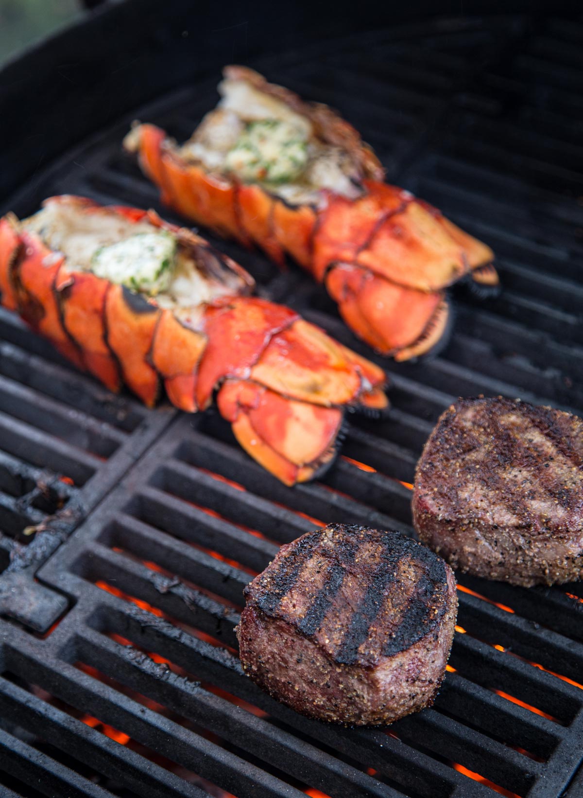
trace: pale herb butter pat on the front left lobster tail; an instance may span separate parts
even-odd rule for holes
[[[138,233],[100,247],[93,253],[91,271],[98,277],[154,296],[170,285],[175,254],[176,240],[170,233]]]

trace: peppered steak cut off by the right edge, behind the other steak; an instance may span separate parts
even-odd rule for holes
[[[417,464],[420,539],[461,571],[524,587],[583,577],[583,421],[522,401],[460,399]]]

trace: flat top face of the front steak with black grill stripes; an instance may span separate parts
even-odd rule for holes
[[[385,650],[396,654],[439,622],[447,591],[443,560],[394,532],[327,529],[328,535],[313,532],[283,546],[253,588],[246,587],[247,599],[313,638],[339,665],[373,662]],[[389,596],[392,583],[398,587]],[[375,623],[379,617],[383,622]]]

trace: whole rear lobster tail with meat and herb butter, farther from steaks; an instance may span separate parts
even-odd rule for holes
[[[375,154],[327,106],[242,66],[224,70],[219,92],[183,146],[138,124],[125,148],[187,219],[305,267],[376,351],[427,353],[447,329],[447,286],[465,275],[498,285],[490,247],[385,184]]]

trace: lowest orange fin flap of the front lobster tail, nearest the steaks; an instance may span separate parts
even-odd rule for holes
[[[340,409],[288,399],[243,380],[225,381],[217,404],[242,448],[285,484],[310,480],[333,462]]]

